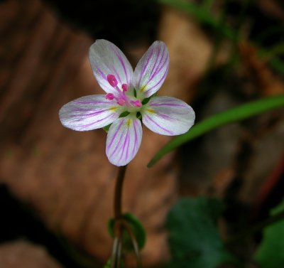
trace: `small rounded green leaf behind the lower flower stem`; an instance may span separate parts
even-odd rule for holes
[[[139,247],[139,250],[143,249],[146,243],[146,231],[138,218],[131,213],[125,213],[122,218],[129,224],[133,235],[136,237],[136,241]],[[115,220],[109,220],[107,224],[107,229],[109,230],[109,235],[114,238],[114,223]],[[128,251],[133,251],[133,244],[131,242],[131,237],[128,233],[124,231],[124,248]]]

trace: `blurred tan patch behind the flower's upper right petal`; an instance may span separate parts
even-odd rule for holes
[[[158,37],[167,43],[170,53],[170,70],[163,85],[166,95],[191,100],[212,44],[192,18],[168,6],[163,7]]]

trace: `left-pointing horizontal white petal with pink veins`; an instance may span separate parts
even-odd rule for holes
[[[59,118],[64,127],[83,132],[111,124],[119,118],[121,109],[115,100],[106,100],[105,95],[89,95],[65,104]]]

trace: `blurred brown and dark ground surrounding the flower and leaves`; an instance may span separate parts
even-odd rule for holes
[[[111,253],[117,169],[106,134],[72,132],[63,104],[102,90],[88,62],[97,38],[133,67],[155,40],[170,52],[160,95],[188,102],[196,122],[284,93],[281,0],[1,0],[0,267],[102,267]],[[146,267],[170,258],[165,218],[182,196],[220,198],[226,237],[268,217],[283,199],[284,109],[229,124],[148,161],[169,137],[143,129],[124,210],[146,227]],[[233,247],[244,262],[259,236]],[[133,264],[131,257],[129,264]]]

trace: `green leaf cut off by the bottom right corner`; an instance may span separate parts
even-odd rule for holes
[[[284,212],[284,201],[271,211],[271,215]],[[261,268],[284,267],[284,219],[266,227],[263,240],[258,247],[254,260]]]

